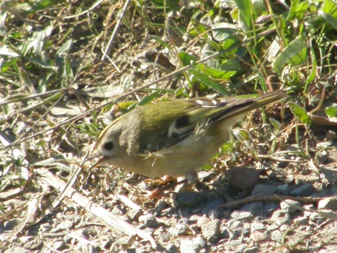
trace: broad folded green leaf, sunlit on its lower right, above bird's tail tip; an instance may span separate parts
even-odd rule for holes
[[[297,65],[306,58],[307,44],[303,36],[294,39],[278,56],[274,63],[273,69],[277,73],[281,73],[287,61]]]

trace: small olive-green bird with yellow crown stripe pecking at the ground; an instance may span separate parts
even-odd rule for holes
[[[186,176],[192,181],[247,112],[286,96],[273,91],[255,98],[178,99],[138,107],[100,133],[94,148],[101,156],[98,163],[149,177]]]

